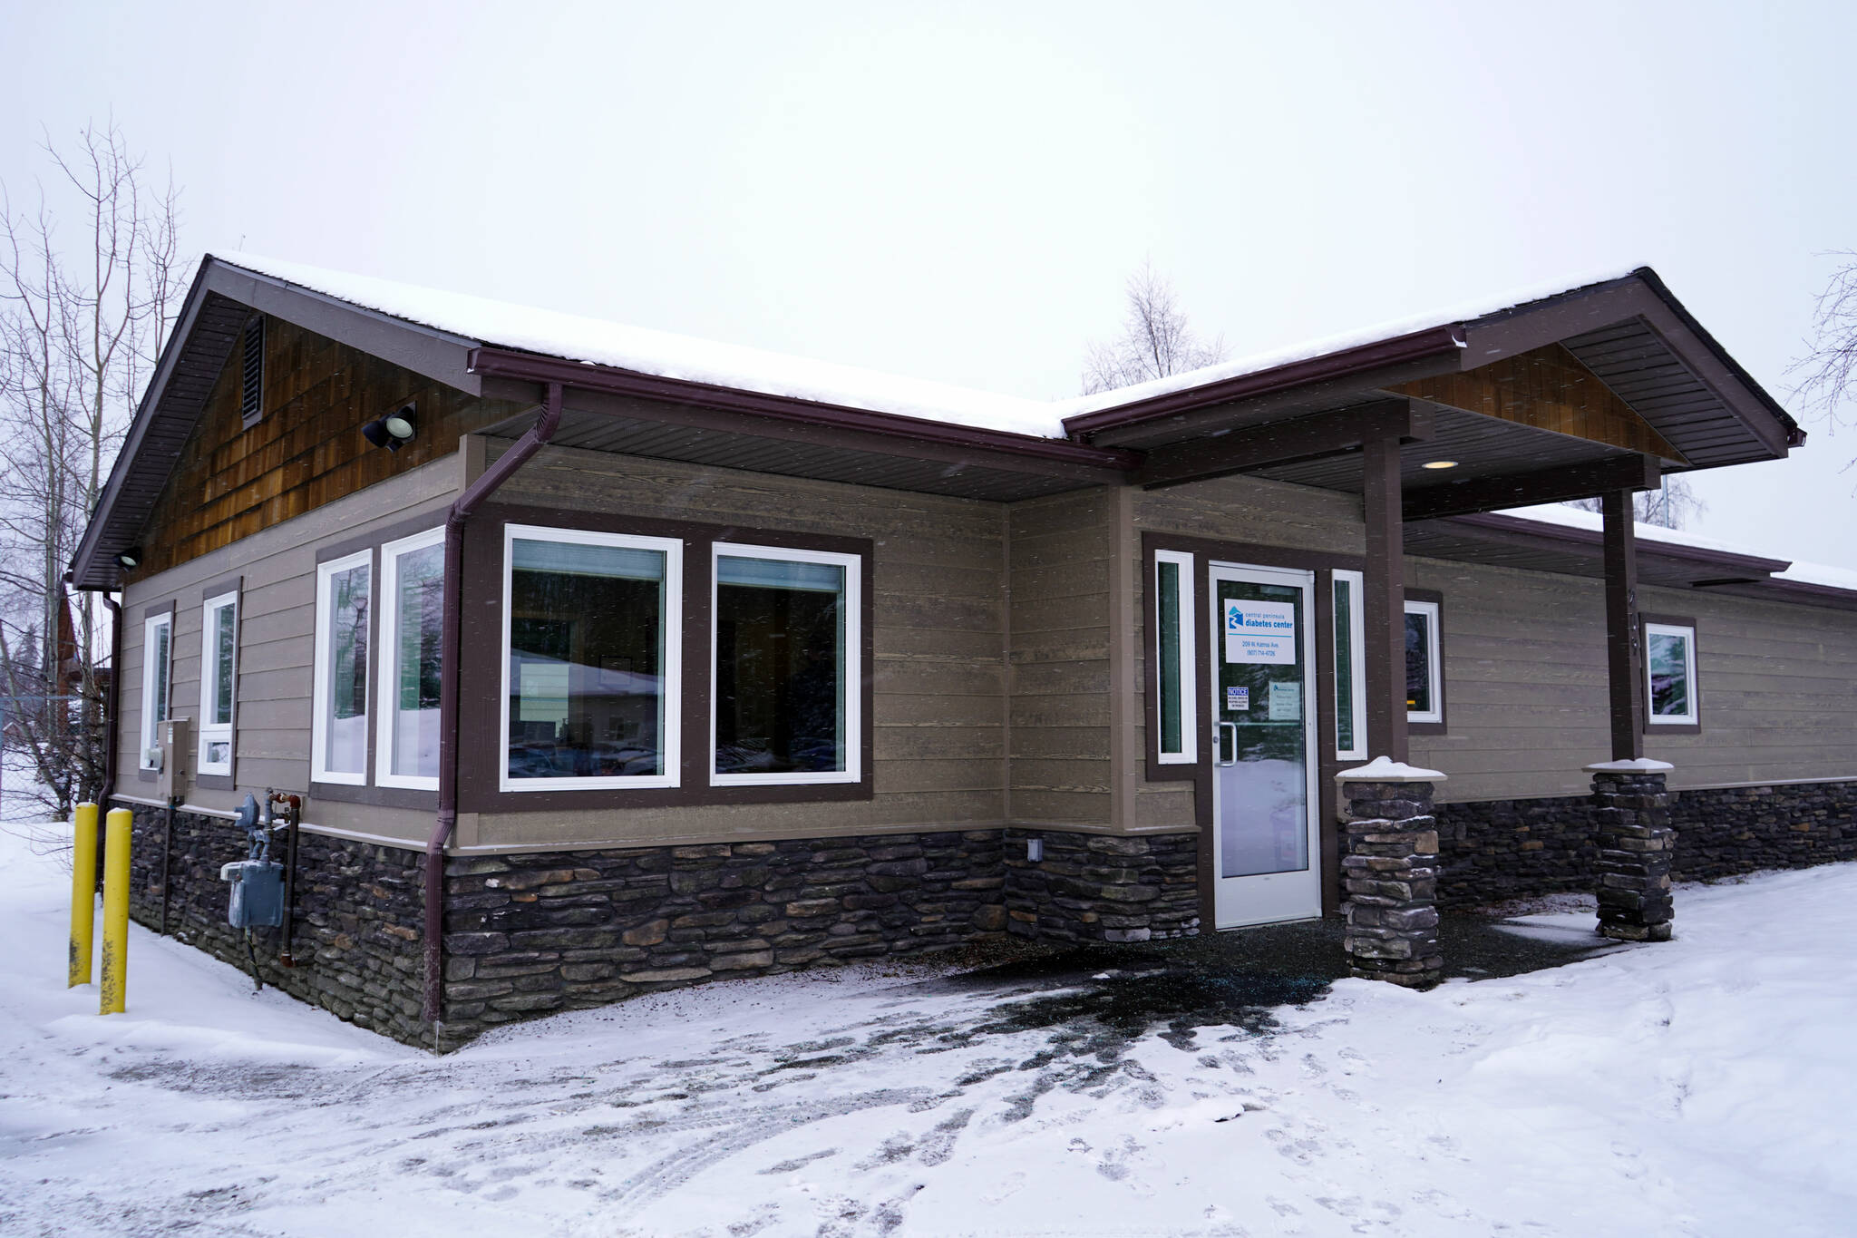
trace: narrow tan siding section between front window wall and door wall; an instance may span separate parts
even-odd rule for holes
[[[1116,503],[1086,490],[1010,512],[1012,819],[1109,826]]]

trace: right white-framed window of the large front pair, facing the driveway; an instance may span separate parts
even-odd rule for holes
[[[862,561],[711,544],[709,783],[854,783],[862,770]]]

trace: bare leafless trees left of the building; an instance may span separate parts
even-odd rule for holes
[[[65,815],[102,787],[111,674],[102,616],[67,592],[65,564],[186,271],[173,182],[150,187],[113,123],[67,148],[48,137],[45,156],[32,210],[0,186],[0,748],[32,774],[32,807]]]

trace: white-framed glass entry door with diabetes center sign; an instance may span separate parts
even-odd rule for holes
[[[1216,928],[1322,913],[1315,574],[1213,564]]]

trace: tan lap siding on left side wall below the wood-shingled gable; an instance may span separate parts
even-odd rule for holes
[[[193,787],[188,802],[230,809],[247,791],[256,794],[264,794],[266,787],[306,791],[316,551],[319,546],[390,529],[422,514],[429,514],[436,525],[444,520],[457,477],[457,460],[442,458],[130,585],[124,594],[117,791],[130,796],[152,796],[154,791],[152,783],[136,778],[141,742],[143,611],[158,601],[176,603],[173,711],[176,716],[197,720],[202,590],[230,575],[243,577],[232,765],[238,787],[234,791]],[[338,804],[318,800],[314,794],[305,807],[305,820],[409,841],[423,839],[431,830],[431,813]]]

